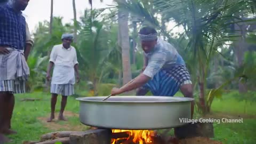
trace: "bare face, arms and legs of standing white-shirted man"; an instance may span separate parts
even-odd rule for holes
[[[72,39],[65,38],[65,39],[62,40],[62,45],[65,49],[68,49],[70,47],[71,42],[72,42]],[[49,63],[49,66],[48,66],[48,69],[47,69],[47,75],[46,75],[47,81],[50,81],[50,79],[51,79],[50,71],[51,71],[53,65],[54,65],[53,62]],[[78,64],[76,64],[74,66],[74,69],[75,69],[75,73],[76,73],[77,83],[79,83],[80,78],[79,78],[79,74],[78,74]],[[47,122],[51,122],[55,118],[54,112],[55,112],[55,105],[56,105],[56,102],[57,102],[57,97],[58,97],[58,94],[52,93],[51,116],[50,116],[49,119],[47,119]],[[63,116],[63,112],[64,112],[64,109],[65,109],[66,105],[67,105],[67,96],[62,95],[60,114],[59,114],[59,117],[58,117],[58,119],[61,120],[61,121],[67,121],[67,119]]]

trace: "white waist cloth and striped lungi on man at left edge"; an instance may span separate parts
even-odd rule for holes
[[[9,54],[0,54],[0,92],[25,93],[29,67],[23,51],[6,49]]]

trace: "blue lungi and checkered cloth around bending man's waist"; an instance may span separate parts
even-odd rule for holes
[[[192,84],[186,66],[175,65],[168,70],[160,70],[141,89],[150,90],[155,96],[173,96],[181,85]]]

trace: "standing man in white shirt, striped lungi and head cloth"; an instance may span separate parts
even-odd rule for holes
[[[79,82],[76,49],[70,45],[71,42],[73,42],[73,35],[63,34],[61,40],[62,44],[53,46],[50,55],[49,67],[47,69],[46,78],[48,81],[51,79],[52,93],[51,116],[49,119],[47,119],[47,122],[51,122],[54,119],[55,105],[57,102],[58,94],[62,95],[61,108],[58,119],[61,121],[66,121],[66,118],[63,116],[63,111],[66,107],[67,97],[75,93],[75,73],[77,83]],[[51,78],[50,71],[53,66],[54,69]]]

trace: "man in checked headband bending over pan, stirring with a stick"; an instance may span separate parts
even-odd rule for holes
[[[139,38],[145,52],[142,73],[121,89],[113,88],[111,94],[137,89],[137,95],[145,95],[150,90],[155,96],[173,97],[181,90],[185,97],[193,98],[190,75],[175,47],[157,37],[156,30],[151,27],[142,28]],[[193,112],[194,102],[191,103],[191,116]]]

